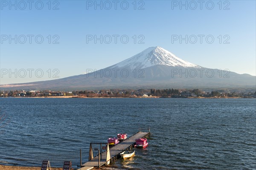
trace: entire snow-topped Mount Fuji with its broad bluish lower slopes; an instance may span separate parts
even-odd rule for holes
[[[1,89],[84,90],[110,88],[252,88],[256,77],[204,68],[150,47],[110,67],[62,79],[0,85]]]

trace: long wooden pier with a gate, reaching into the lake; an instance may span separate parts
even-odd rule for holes
[[[143,132],[144,131],[144,132]],[[147,132],[145,132],[147,131]],[[109,148],[107,143],[90,143],[89,161],[81,165],[79,170],[91,170],[94,167],[102,167],[121,158],[119,153],[134,147],[135,140],[146,138],[150,135],[150,128],[139,128],[139,132],[128,139]]]

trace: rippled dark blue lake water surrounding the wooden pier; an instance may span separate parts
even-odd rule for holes
[[[0,164],[76,167],[90,142],[150,127],[149,146],[111,169],[256,168],[256,99],[0,98],[0,106]]]

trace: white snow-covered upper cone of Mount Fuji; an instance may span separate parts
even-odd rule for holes
[[[192,64],[176,57],[171,52],[161,47],[150,47],[144,51],[136,54],[135,56],[125,59],[110,68],[122,68],[130,67],[132,70],[135,68],[147,68],[154,65],[169,65],[169,66],[180,66],[180,67],[196,67],[200,68],[199,65]]]

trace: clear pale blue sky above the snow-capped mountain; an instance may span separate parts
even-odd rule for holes
[[[255,0],[221,1],[221,7],[219,0],[211,1],[213,8],[209,1],[204,1],[202,6],[198,1],[193,1],[197,3],[196,8],[195,3],[182,1],[188,4],[187,9],[186,6],[180,6],[180,1],[136,1],[136,10],[134,0],[118,1],[116,9],[112,0],[108,1],[111,8],[108,2],[97,1],[102,3],[102,9],[100,6],[95,9],[94,0],[51,1],[51,6],[49,0],[43,0],[44,6],[41,10],[41,3],[38,1],[26,3],[26,7],[20,1],[12,1],[13,4],[15,2],[17,6],[10,6],[9,0],[1,0],[0,68],[2,72],[3,69],[11,69],[13,72],[15,69],[24,69],[27,75],[22,78],[22,71],[21,76],[17,75],[17,78],[15,74],[11,77],[4,74],[0,84],[56,79],[52,78],[52,74],[49,78],[49,69],[52,73],[53,69],[58,69],[60,78],[84,74],[86,69],[98,70],[108,67],[152,46],[160,46],[181,59],[207,68],[229,69],[239,74],[256,75]],[[129,7],[124,10],[126,2]],[[53,8],[58,10],[52,10]],[[17,44],[15,40],[9,42],[9,35],[14,39],[17,35]],[[21,43],[24,42],[22,35],[26,37],[24,44]],[[34,36],[31,44],[28,35]],[[44,38],[41,44],[35,42],[37,35]],[[48,35],[51,35],[50,44]],[[54,35],[57,36],[53,37]],[[87,35],[111,35],[112,41],[107,44],[109,39],[105,37],[102,44],[100,40],[97,40],[96,44],[93,40],[88,40],[87,43]],[[116,43],[112,35],[119,35]],[[128,36],[128,43],[121,42],[122,35]],[[135,43],[134,35],[137,37]],[[179,40],[172,42],[173,35],[204,37],[202,43],[198,37],[197,42],[193,44],[191,42],[195,39],[192,36],[186,44],[185,40],[181,43]],[[208,43],[210,38],[206,41],[207,35],[214,37],[213,43]],[[225,35],[227,36],[224,37]],[[53,40],[58,37],[56,42],[59,44],[53,44]],[[143,37],[144,44],[138,43]],[[123,40],[125,41],[125,38]],[[225,40],[230,43],[225,44]],[[41,69],[44,76],[38,78],[40,76],[36,77],[32,71],[29,77],[27,69]]]

